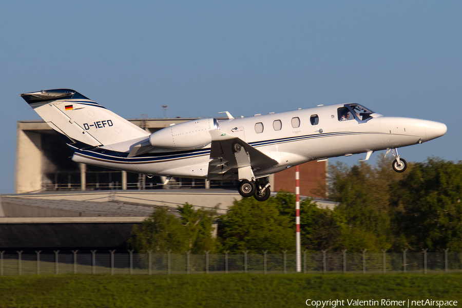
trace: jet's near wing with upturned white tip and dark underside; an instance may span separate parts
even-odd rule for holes
[[[278,161],[265,155],[242,139],[218,129],[210,130],[210,159],[208,179],[239,179],[239,169],[252,170],[272,168]]]

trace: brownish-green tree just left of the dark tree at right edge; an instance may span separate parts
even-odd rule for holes
[[[339,247],[379,252],[393,246],[390,196],[393,183],[403,175],[394,172],[391,164],[390,158],[378,158],[375,166],[365,162],[351,168],[341,163],[331,166],[329,196],[340,203],[334,210],[341,225]]]

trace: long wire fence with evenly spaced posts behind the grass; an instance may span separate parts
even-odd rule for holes
[[[301,273],[461,273],[462,253],[309,253],[300,256]],[[296,255],[281,254],[174,254],[133,251],[71,253],[0,251],[0,275],[44,274],[202,274],[296,273]]]

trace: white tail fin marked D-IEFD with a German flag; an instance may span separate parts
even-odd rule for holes
[[[149,136],[145,130],[74,90],[38,91],[21,97],[71,147],[100,146]]]

